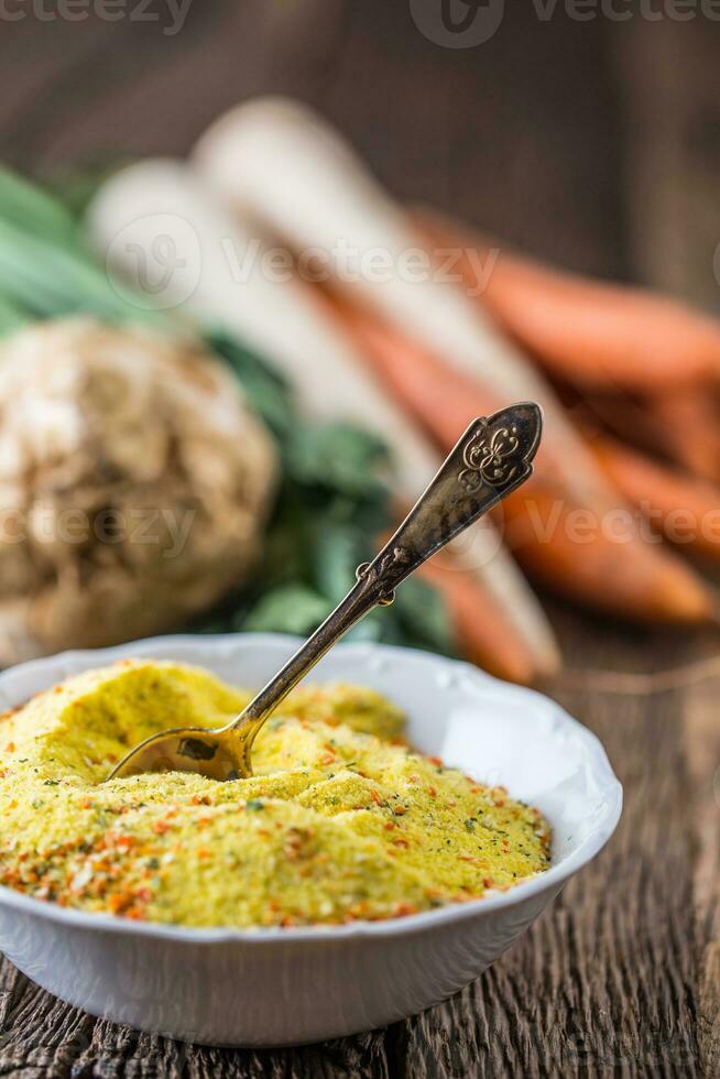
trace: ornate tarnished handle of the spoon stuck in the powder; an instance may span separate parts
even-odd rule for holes
[[[392,538],[371,563],[358,567],[345,599],[230,724],[242,728],[248,769],[254,734],[335,642],[374,607],[392,603],[405,578],[527,479],[542,425],[541,410],[532,403],[470,424]]]

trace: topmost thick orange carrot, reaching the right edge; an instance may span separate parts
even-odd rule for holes
[[[462,225],[423,211],[433,247],[461,253],[477,294],[477,264],[495,249]],[[720,379],[720,324],[664,296],[563,273],[504,249],[477,301],[554,374],[585,386],[659,392]]]

